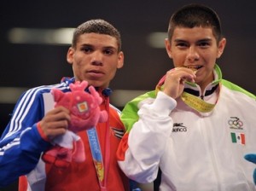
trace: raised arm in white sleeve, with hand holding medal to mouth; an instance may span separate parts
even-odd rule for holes
[[[188,68],[172,69],[160,80],[164,85],[154,101],[141,104],[139,110],[137,99],[125,106],[121,119],[128,131],[117,155],[127,177],[142,183],[153,182],[157,177],[166,140],[172,133],[170,113],[176,107],[175,99],[182,94],[184,82],[194,82],[194,78],[195,73]]]

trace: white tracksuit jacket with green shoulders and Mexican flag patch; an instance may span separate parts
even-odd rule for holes
[[[199,113],[161,91],[125,106],[121,119],[128,131],[118,158],[128,177],[153,182],[160,168],[164,191],[256,190],[256,166],[244,159],[256,153],[255,96],[222,79],[217,65],[214,75],[207,90],[216,84],[218,89],[208,96],[197,85],[189,87],[208,102],[218,100],[210,113]]]

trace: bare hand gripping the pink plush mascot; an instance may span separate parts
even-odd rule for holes
[[[41,129],[49,140],[66,132],[70,122],[69,110],[66,107],[55,107],[46,113],[40,121]]]

